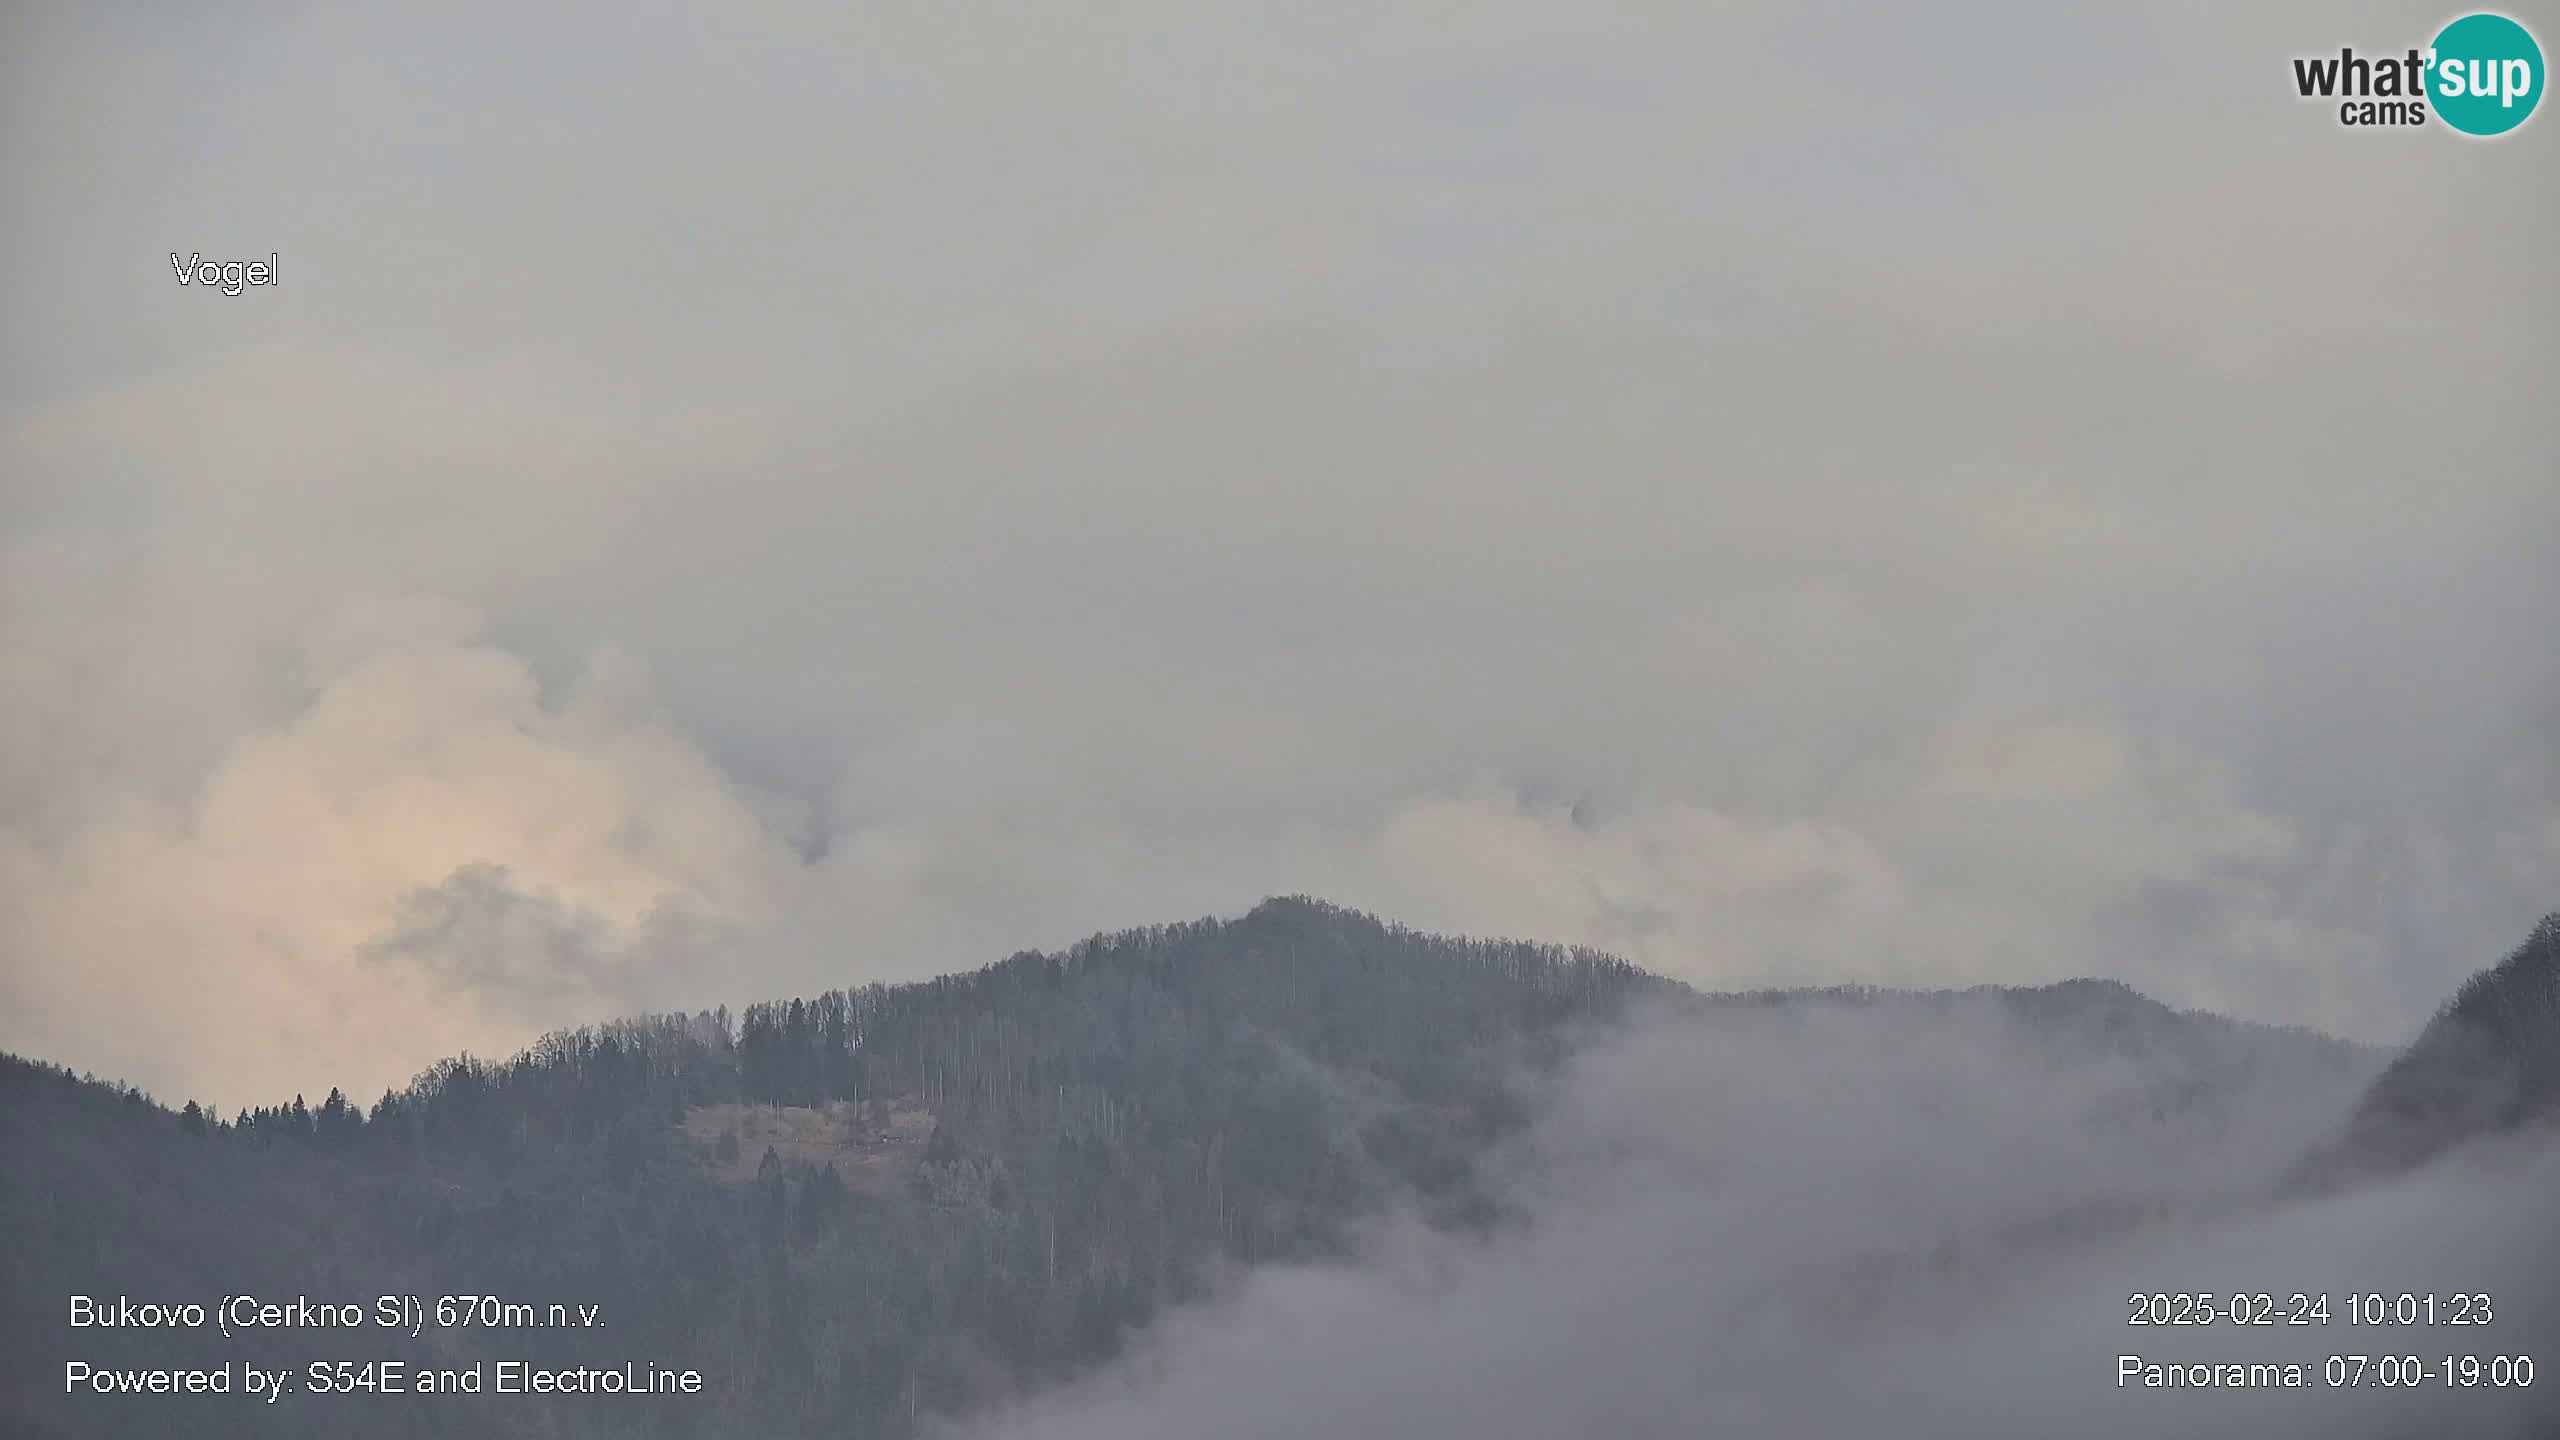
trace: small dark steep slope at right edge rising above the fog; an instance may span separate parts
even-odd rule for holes
[[[2560,912],[2445,1002],[2307,1176],[2409,1168],[2478,1135],[2552,1122],[2560,1122]]]

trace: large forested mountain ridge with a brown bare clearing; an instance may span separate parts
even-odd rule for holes
[[[1500,1222],[1482,1163],[1539,1076],[1636,1004],[1930,1007],[2130,1066],[2145,1135],[2212,1130],[2255,1066],[2378,1063],[2125,986],[1700,997],[1610,956],[1418,935],[1311,899],[975,974],[648,1017],[456,1058],[371,1109],[230,1120],[0,1063],[0,1430],[10,1435],[911,1435],[1080,1373],[1236,1266],[1344,1250],[1403,1204]],[[2327,1079],[2324,1079],[2327,1076]],[[69,1294],[596,1304],[602,1332],[261,1335],[261,1363],[694,1366],[645,1407],[61,1396],[61,1363],[205,1335],[64,1330]]]

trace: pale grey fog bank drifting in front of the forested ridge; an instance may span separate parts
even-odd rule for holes
[[[970,1435],[2130,1440],[2522,1435],[2552,1414],[2547,1379],[2120,1384],[2125,1355],[2322,1376],[2330,1353],[2540,1358],[2560,1335],[2560,1284],[2519,1263],[2542,1253],[2550,1145],[2273,1204],[2271,1174],[2353,1079],[2260,1063],[2212,1115],[2156,1109],[2163,1079],[1984,1010],[1656,1020],[1549,1097],[1510,1158],[1516,1230],[1390,1227],[1357,1263],[1257,1271],[1114,1373]],[[2127,1325],[2132,1294],[2199,1289],[2268,1291],[2278,1320],[2327,1294],[2330,1325]],[[2350,1291],[2486,1291],[2493,1322],[2355,1327]]]

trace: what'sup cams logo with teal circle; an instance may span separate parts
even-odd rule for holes
[[[2294,56],[2294,92],[2337,105],[2340,126],[2424,126],[2504,136],[2542,105],[2542,46],[2506,15],[2463,15],[2401,54]]]

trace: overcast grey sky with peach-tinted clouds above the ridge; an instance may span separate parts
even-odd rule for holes
[[[0,1045],[1275,892],[2404,1038],[2560,904],[2560,131],[2230,10],[10,8]]]

